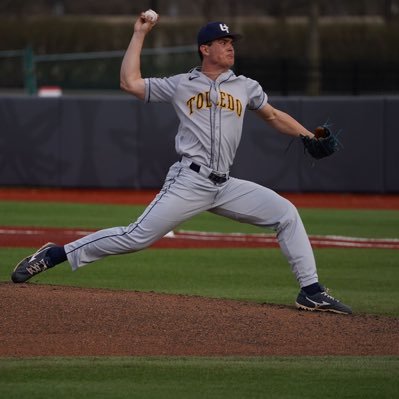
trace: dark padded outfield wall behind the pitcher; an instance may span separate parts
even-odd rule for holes
[[[307,127],[329,120],[342,148],[313,161],[248,111],[233,176],[280,192],[399,192],[399,96],[269,100]],[[126,95],[0,96],[0,186],[159,188],[177,126],[169,104]]]

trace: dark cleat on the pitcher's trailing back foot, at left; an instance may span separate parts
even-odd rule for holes
[[[50,259],[46,255],[51,247],[55,247],[55,244],[48,242],[39,248],[33,255],[29,255],[27,258],[21,260],[21,262],[15,266],[15,269],[11,274],[11,280],[14,283],[24,283],[36,274],[44,272],[50,268]]]

